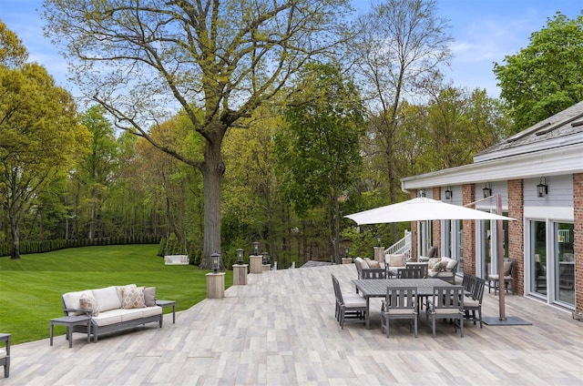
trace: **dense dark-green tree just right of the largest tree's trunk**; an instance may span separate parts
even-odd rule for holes
[[[275,137],[281,189],[302,217],[323,207],[332,262],[340,262],[340,201],[358,178],[363,105],[356,86],[333,64],[309,64]]]

